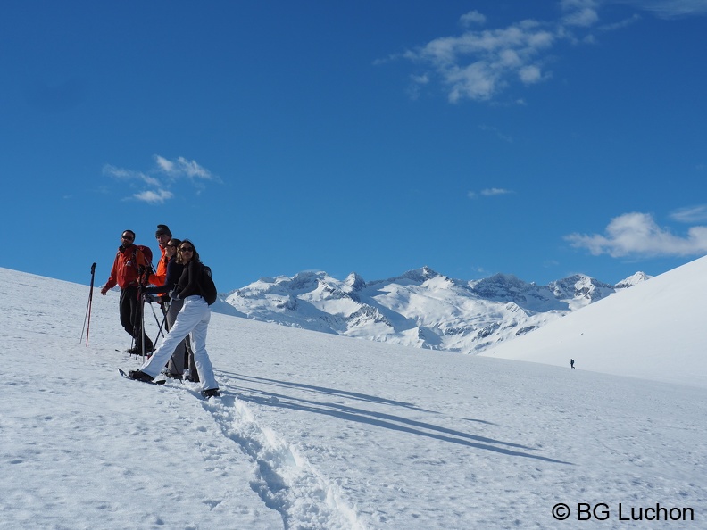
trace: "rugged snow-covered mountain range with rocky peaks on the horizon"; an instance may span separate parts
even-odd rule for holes
[[[574,275],[536,286],[504,274],[464,281],[428,267],[371,282],[356,273],[341,281],[326,272],[301,272],[295,277],[263,277],[224,299],[249,319],[478,353],[648,278],[637,272],[611,286]]]

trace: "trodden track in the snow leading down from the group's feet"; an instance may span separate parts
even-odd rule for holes
[[[255,465],[251,488],[279,512],[285,530],[363,530],[339,487],[312,467],[296,448],[267,426],[231,393],[204,402],[221,432]]]

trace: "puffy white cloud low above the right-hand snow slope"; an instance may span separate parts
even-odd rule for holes
[[[691,256],[707,253],[707,227],[692,227],[684,237],[661,228],[648,213],[625,213],[611,219],[605,234],[565,236],[570,244],[586,248],[594,255],[626,256]]]

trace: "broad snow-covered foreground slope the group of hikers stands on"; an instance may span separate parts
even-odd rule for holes
[[[81,343],[87,298],[88,286],[0,269],[1,528],[707,527],[703,380],[214,313],[226,393],[204,401],[196,385],[118,375],[138,361],[116,351],[129,346],[116,293],[95,290]],[[699,324],[683,343],[702,348]],[[653,352],[644,336],[604,361]]]

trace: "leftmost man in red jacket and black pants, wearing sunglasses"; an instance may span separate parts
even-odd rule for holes
[[[121,236],[121,246],[115,254],[115,261],[111,269],[111,276],[101,289],[101,294],[105,294],[114,286],[121,287],[121,300],[119,302],[119,312],[121,315],[121,325],[130,336],[135,339],[135,345],[128,352],[140,354],[142,351],[142,337],[145,336],[145,352],[152,352],[154,346],[150,337],[144,334],[142,329],[142,318],[139,314],[139,294],[137,286],[140,281],[140,271],[150,269],[150,262],[145,253],[137,248],[135,232],[124,230]]]

